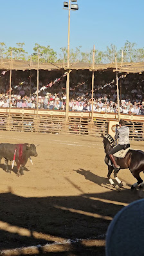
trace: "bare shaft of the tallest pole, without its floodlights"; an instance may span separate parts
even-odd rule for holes
[[[70,41],[70,10],[71,1],[69,0],[69,16],[68,16],[68,39],[67,39],[67,80],[66,80],[66,122],[69,120],[69,41]]]

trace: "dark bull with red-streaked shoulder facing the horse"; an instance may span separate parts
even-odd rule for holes
[[[16,153],[15,153],[16,149]],[[17,164],[17,176],[23,174],[24,165],[26,165],[28,158],[30,156],[37,156],[36,147],[34,144],[10,144],[1,143],[0,144],[0,161],[4,158],[6,171],[8,170],[8,160],[12,161],[15,153],[15,162]]]

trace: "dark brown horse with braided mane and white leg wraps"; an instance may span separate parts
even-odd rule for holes
[[[104,150],[105,154],[110,151],[114,147],[114,139],[111,135],[103,135],[103,143],[104,143]],[[105,156],[105,163],[108,165],[108,174],[107,177],[111,185],[113,185],[116,189],[119,188],[118,185],[114,185],[113,179],[111,179],[111,174],[114,170],[113,165],[109,162],[108,158]],[[144,182],[140,178],[140,172],[144,172],[144,152],[139,150],[132,150],[130,149],[124,158],[116,158],[116,163],[120,165],[120,169],[127,169],[131,170],[132,175],[134,178],[137,179],[137,182],[134,183],[131,189],[134,189],[136,186],[140,185],[140,188],[143,187]],[[119,170],[118,170],[119,171]],[[122,187],[123,183],[117,177],[118,171],[114,170],[114,178],[118,182],[118,184]]]

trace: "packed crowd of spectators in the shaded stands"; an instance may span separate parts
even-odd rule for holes
[[[92,111],[91,84],[84,81],[84,75],[80,82],[70,84],[69,88],[69,111]],[[120,80],[120,113],[144,115],[144,92],[143,77],[140,75],[127,75]],[[48,83],[44,78],[39,81],[39,88]],[[17,107],[39,109],[66,109],[66,88],[64,82],[40,90],[37,101],[37,86],[35,80],[29,77],[16,77],[12,80],[11,102],[8,92],[8,77],[1,75],[0,107]],[[115,82],[105,84],[105,80],[99,80],[95,85],[93,111],[98,113],[118,113],[116,101]]]

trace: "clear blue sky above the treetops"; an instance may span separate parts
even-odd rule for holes
[[[68,0],[67,0],[68,1]],[[59,52],[67,47],[68,11],[63,0],[0,0],[0,42],[15,47],[24,42],[24,50],[33,52],[37,42]],[[71,11],[70,49],[106,50],[111,43],[120,49],[125,41],[144,47],[143,0],[77,0]]]

